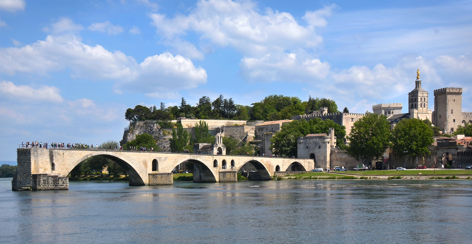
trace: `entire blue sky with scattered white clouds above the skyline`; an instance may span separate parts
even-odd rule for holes
[[[364,113],[405,104],[416,69],[430,99],[462,87],[472,112],[471,13],[471,1],[0,0],[0,160],[22,141],[119,141],[126,108],[182,97],[312,96]]]

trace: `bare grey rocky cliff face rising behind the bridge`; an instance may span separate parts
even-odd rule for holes
[[[166,132],[160,129],[158,123],[154,122],[143,122],[137,121],[129,125],[129,130],[125,130],[123,133],[123,139],[120,141],[120,145],[124,145],[126,142],[134,140],[137,135],[150,134],[157,141],[156,146],[160,148],[162,152],[170,152],[169,138],[171,135],[166,135]]]

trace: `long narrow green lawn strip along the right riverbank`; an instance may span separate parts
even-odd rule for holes
[[[349,175],[384,175],[384,171],[336,171],[338,174]],[[387,170],[385,175],[472,175],[472,170]]]

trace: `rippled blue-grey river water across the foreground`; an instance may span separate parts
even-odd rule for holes
[[[472,181],[278,180],[11,191],[3,243],[472,243]]]

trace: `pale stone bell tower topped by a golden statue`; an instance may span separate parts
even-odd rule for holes
[[[428,109],[429,93],[421,88],[420,73],[416,76],[415,89],[408,93],[408,111],[410,118],[432,120],[432,111]]]

